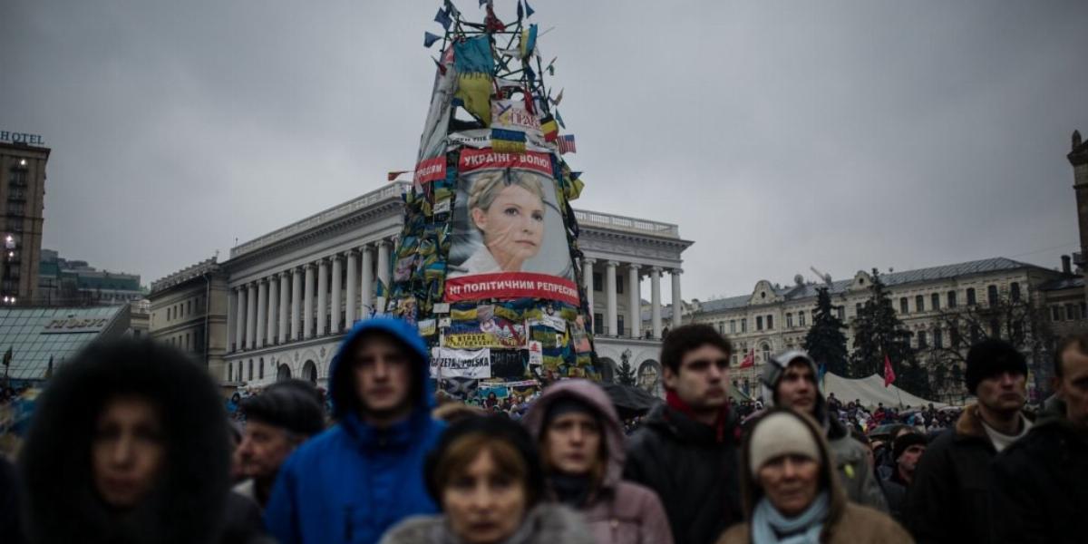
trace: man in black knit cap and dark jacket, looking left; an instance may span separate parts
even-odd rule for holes
[[[929,445],[906,493],[903,521],[919,544],[994,542],[989,465],[1031,426],[1022,411],[1027,362],[1015,347],[972,346],[964,381],[978,403]]]

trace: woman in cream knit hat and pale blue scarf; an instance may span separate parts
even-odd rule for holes
[[[846,500],[828,452],[811,417],[788,408],[766,412],[741,453],[745,522],[718,544],[913,543],[886,514]]]

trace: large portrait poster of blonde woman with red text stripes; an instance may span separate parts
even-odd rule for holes
[[[446,300],[579,304],[548,153],[462,148],[455,202]]]

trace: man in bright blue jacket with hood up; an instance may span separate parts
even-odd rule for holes
[[[300,446],[280,471],[264,512],[281,544],[376,543],[386,529],[437,506],[423,483],[423,458],[444,425],[426,346],[392,318],[357,324],[329,373],[337,423]]]

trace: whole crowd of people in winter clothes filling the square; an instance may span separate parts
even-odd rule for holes
[[[728,394],[732,350],[709,326],[671,331],[660,353],[665,401],[633,422],[585,380],[552,384],[511,409],[438,406],[425,343],[392,318],[362,321],[347,335],[327,395],[308,382],[279,382],[232,399],[237,418],[207,372],[174,348],[134,338],[94,344],[38,397],[17,466],[0,458],[0,536],[30,544],[1085,540],[1077,512],[1088,504],[1088,335],[1058,346],[1058,393],[1037,418],[1024,410],[1024,357],[1001,341],[970,348],[965,385],[977,403],[954,420],[932,406],[868,411],[825,397],[804,351],[768,361],[765,397],[738,403]]]

